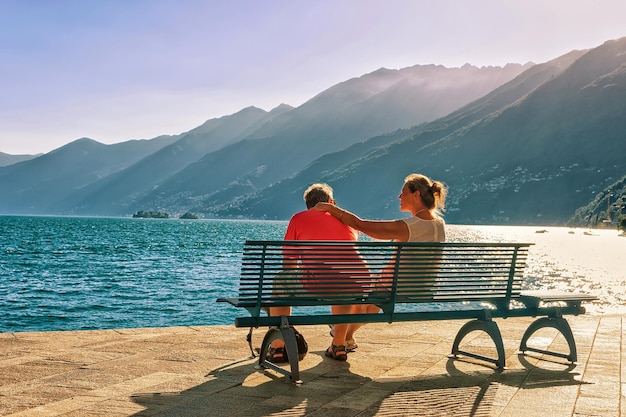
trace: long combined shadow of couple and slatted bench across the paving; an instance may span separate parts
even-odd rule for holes
[[[363,369],[367,357],[355,357]],[[359,361],[359,362],[356,362]],[[424,375],[369,377],[353,372],[324,351],[309,352],[301,362],[304,383],[296,386],[278,373],[255,369],[246,358],[211,370],[206,382],[188,390],[133,396],[145,407],[135,416],[492,416],[519,390],[574,389],[584,384],[573,366],[550,369],[520,359],[522,369],[497,371],[462,359],[449,359],[445,370]],[[409,367],[404,362],[404,366]],[[406,372],[405,372],[406,373]],[[409,372],[410,374],[410,372]],[[542,397],[543,398],[543,397]]]

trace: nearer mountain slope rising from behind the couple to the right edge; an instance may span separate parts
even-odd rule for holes
[[[287,179],[236,209],[283,218],[281,206],[301,208],[301,191],[322,180],[347,209],[394,218],[404,176],[422,172],[449,186],[450,223],[564,224],[626,173],[624,97],[626,38],[535,66],[403,140]],[[337,156],[315,164],[325,158]]]

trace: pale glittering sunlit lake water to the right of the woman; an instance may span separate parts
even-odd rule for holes
[[[581,292],[590,314],[626,313],[626,237],[615,229],[448,225],[448,241],[533,243],[525,272],[528,289]]]

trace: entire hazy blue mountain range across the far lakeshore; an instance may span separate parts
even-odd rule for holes
[[[0,167],[0,213],[287,219],[324,181],[343,207],[398,218],[421,172],[448,185],[448,223],[580,223],[607,193],[623,202],[624,97],[626,38],[538,65],[381,68],[297,108]]]

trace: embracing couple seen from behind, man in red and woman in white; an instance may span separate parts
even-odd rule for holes
[[[359,232],[374,239],[394,240],[398,242],[444,242],[445,222],[441,217],[444,209],[447,189],[439,181],[433,181],[421,174],[410,174],[404,179],[400,199],[400,210],[411,213],[410,218],[400,220],[364,220],[357,215],[335,205],[333,189],[327,184],[313,184],[304,192],[307,210],[292,216],[287,226],[284,240],[340,240],[356,241]],[[358,254],[356,255],[358,256]],[[285,269],[295,268],[299,261],[297,253],[293,256],[285,252]],[[302,262],[302,260],[300,259]],[[314,268],[313,268],[314,269]],[[310,268],[307,267],[310,271]],[[358,277],[364,277],[359,283]],[[347,290],[350,286],[371,285],[368,280],[370,273],[363,263],[362,270],[355,268],[350,277],[356,280],[346,281]],[[328,276],[326,277],[328,278]],[[338,277],[340,279],[340,277]],[[314,277],[302,281],[306,288],[321,285]],[[369,284],[368,284],[369,282]],[[342,282],[343,283],[343,282]],[[342,284],[340,283],[340,284]],[[333,314],[376,313],[374,305],[353,306],[333,305]],[[272,307],[270,316],[290,315],[290,307]],[[326,350],[326,356],[339,361],[348,358],[348,352],[356,349],[354,333],[362,323],[337,324],[333,329],[332,344]],[[287,362],[288,358],[282,340],[275,340],[269,350],[269,360],[274,363]]]

